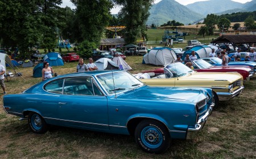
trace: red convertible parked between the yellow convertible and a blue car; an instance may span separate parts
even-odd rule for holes
[[[250,77],[255,73],[250,67],[240,67],[240,66],[213,66],[204,60],[196,60],[192,61],[194,70],[197,72],[237,72],[243,76],[243,80],[250,80]],[[164,73],[163,68],[155,69],[155,70],[147,70],[143,73],[151,73],[154,72],[155,76]]]

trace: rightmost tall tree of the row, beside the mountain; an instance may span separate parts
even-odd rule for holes
[[[119,16],[126,26],[126,43],[135,43],[139,37],[146,39],[146,22],[154,0],[115,0],[114,2],[123,6]]]

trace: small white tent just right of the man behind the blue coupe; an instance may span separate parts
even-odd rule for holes
[[[98,70],[118,70],[117,64],[109,58],[100,58],[94,63]]]

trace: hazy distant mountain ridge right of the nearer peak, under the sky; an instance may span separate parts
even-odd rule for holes
[[[189,9],[198,12],[199,14],[207,15],[212,13],[224,12],[226,10],[241,9],[242,3],[231,0],[209,0],[195,2],[186,5]]]

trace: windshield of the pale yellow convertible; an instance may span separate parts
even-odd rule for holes
[[[188,68],[188,66],[182,64],[181,62],[175,62],[168,64],[164,68],[168,69],[174,77],[185,76],[187,73],[193,73],[193,70]]]

